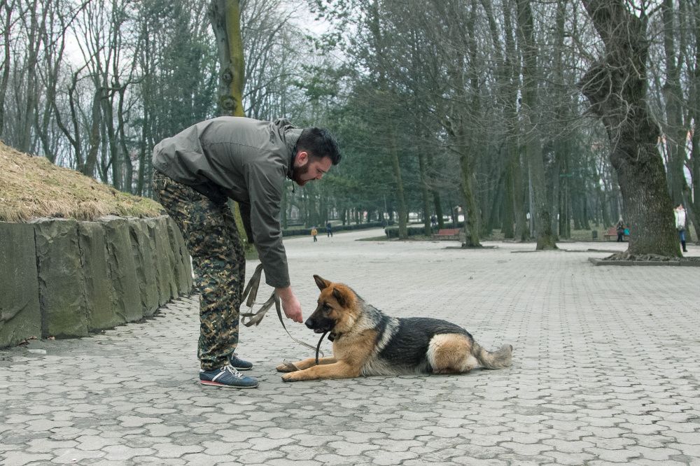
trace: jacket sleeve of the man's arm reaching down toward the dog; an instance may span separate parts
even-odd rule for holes
[[[265,283],[274,288],[289,286],[287,255],[282,244],[279,221],[284,176],[285,171],[281,166],[251,163],[245,169],[253,243],[258,249],[262,269],[265,270]],[[244,216],[244,225],[245,223]]]

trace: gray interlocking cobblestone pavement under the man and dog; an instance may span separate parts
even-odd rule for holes
[[[260,388],[204,387],[196,297],[180,299],[94,337],[0,351],[0,464],[700,465],[700,269],[594,267],[606,253],[588,248],[625,247],[602,241],[355,241],[379,234],[286,241],[305,317],[319,274],[394,316],[510,343],[513,367],[283,383],[275,365],[312,352],[273,311],[241,330]]]

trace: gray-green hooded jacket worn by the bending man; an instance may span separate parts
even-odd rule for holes
[[[230,197],[239,203],[248,241],[255,243],[265,281],[273,287],[289,285],[279,213],[301,132],[286,120],[220,117],[190,126],[153,149],[153,167],[169,178],[214,202]]]

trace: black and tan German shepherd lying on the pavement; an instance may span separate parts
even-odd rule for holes
[[[477,366],[510,366],[513,347],[486,351],[462,327],[433,318],[393,318],[367,304],[342,283],[314,275],[321,290],[306,321],[316,333],[330,332],[333,357],[277,366],[286,382],[348,379],[370,375],[461,374]]]

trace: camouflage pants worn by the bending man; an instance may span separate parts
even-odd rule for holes
[[[228,364],[238,345],[246,257],[228,204],[217,204],[156,170],[153,192],[175,220],[192,256],[200,293],[197,356],[204,370]]]

